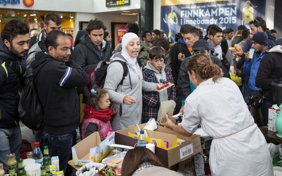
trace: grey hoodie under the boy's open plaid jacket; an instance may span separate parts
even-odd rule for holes
[[[165,74],[165,64],[162,65],[161,72],[159,72],[159,71],[153,66],[153,64],[150,63],[150,61],[147,61],[147,65],[146,65],[144,68],[147,68],[147,69],[149,69],[149,70],[154,71],[154,74],[155,74],[155,76],[156,76],[156,79],[158,80],[159,83],[164,83],[164,82],[167,81],[167,75]],[[168,100],[167,90],[166,90],[166,91],[159,92],[159,96],[160,96],[160,102],[162,102],[162,101],[167,101],[167,100]]]

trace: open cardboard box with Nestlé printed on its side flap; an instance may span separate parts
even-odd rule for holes
[[[99,152],[100,152],[99,159],[101,160],[104,157],[115,155],[115,153],[111,151],[113,147],[107,146],[107,144],[115,143],[114,136],[115,133],[112,133],[104,141],[101,142],[99,133],[98,132],[92,133],[91,135],[89,135],[88,137],[86,137],[85,139],[83,139],[82,141],[80,141],[79,143],[77,143],[75,146],[72,147],[73,160],[68,161],[68,164],[78,170],[79,168],[81,168],[82,165],[88,162],[93,162],[93,160],[89,159],[91,148],[95,148],[95,151],[97,148],[99,148]],[[107,147],[107,149],[105,149],[104,147]],[[95,157],[97,158],[97,156]]]

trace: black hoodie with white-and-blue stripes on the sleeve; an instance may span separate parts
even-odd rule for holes
[[[85,86],[88,77],[74,61],[60,62],[39,52],[30,65],[43,106],[44,131],[62,135],[79,125],[79,99],[76,86]]]

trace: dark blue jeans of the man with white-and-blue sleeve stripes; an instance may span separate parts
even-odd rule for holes
[[[63,170],[66,174],[68,160],[70,158],[71,147],[73,144],[73,134],[67,133],[64,135],[52,135],[43,132],[42,135],[43,145],[48,146],[49,155],[51,157],[59,157],[59,170]]]

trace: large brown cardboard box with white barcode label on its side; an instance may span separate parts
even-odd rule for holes
[[[139,125],[139,128],[143,129],[145,125],[146,124],[141,124]],[[129,137],[128,133],[130,132],[136,134],[137,131],[138,128],[136,127],[136,125],[132,125],[128,128],[116,131],[115,144],[134,146],[137,143],[137,139]],[[196,153],[199,153],[202,150],[199,136],[192,135],[190,137],[186,137],[184,135],[176,133],[174,130],[162,126],[158,126],[158,128],[154,131],[156,132],[156,134],[165,135],[165,137],[169,136],[168,134],[171,134],[177,136],[179,139],[185,140],[180,145],[177,145],[176,147],[171,149],[164,149],[160,147],[155,148],[155,154],[159,157],[162,164],[167,167],[171,167],[174,164],[184,161],[185,159],[195,155]]]

